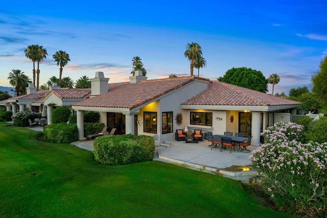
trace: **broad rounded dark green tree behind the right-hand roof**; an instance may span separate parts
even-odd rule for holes
[[[219,81],[238,85],[251,90],[266,93],[268,91],[268,81],[261,71],[252,70],[251,68],[232,68],[226,71]]]

